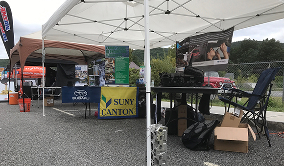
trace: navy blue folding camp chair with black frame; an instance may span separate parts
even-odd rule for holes
[[[233,105],[235,107],[238,107],[239,109],[242,109],[246,111],[244,113],[242,121],[248,120],[250,123],[255,125],[259,138],[260,138],[260,133],[263,133],[266,135],[269,147],[271,147],[270,144],[270,138],[269,138],[269,131],[267,127],[267,122],[266,122],[266,109],[267,109],[267,104],[268,100],[271,94],[271,88],[272,88],[272,81],[275,79],[276,73],[280,70],[281,67],[277,68],[269,68],[264,70],[259,77],[259,80],[253,90],[252,93],[244,92],[239,89],[227,89],[232,92],[232,96],[242,98],[246,97],[248,100],[244,105],[237,104],[235,102],[232,102],[232,98],[226,99],[223,97],[219,97],[219,100],[222,102],[229,104],[228,110],[230,109],[230,105]],[[268,90],[269,88],[269,90]],[[267,94],[268,90],[268,94]],[[226,109],[226,107],[225,107]]]

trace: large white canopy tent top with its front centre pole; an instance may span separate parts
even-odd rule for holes
[[[233,26],[238,30],[283,18],[283,0],[66,0],[42,26],[42,38],[145,49],[150,166],[149,49],[196,34]]]

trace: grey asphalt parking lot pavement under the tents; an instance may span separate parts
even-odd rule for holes
[[[55,101],[53,107],[34,104],[30,112],[0,103],[0,166],[145,166],[146,119],[100,120],[91,104]],[[161,124],[165,124],[162,119]],[[283,132],[270,130],[271,133]],[[168,135],[167,166],[284,166],[284,138],[270,134],[256,142],[249,136],[248,153],[186,148],[181,137]]]

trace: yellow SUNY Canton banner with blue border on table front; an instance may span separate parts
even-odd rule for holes
[[[98,119],[138,117],[137,87],[101,87]]]

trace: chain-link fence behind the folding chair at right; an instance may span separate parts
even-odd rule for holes
[[[275,76],[269,102],[284,103],[284,61],[277,62],[254,62],[228,64],[226,71],[218,71],[219,77],[230,78],[236,82],[238,89],[252,92],[260,74],[267,68],[281,67]],[[191,101],[190,94],[187,100]],[[215,100],[218,100],[215,98]]]

